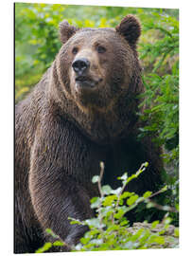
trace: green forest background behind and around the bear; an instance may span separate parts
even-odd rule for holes
[[[164,205],[176,209],[175,212],[169,213],[169,217],[172,219],[172,223],[178,226],[179,13],[177,9],[77,7],[16,3],[15,99],[16,102],[22,100],[32,86],[41,79],[44,70],[54,60],[61,47],[58,36],[58,25],[61,20],[67,19],[69,23],[78,27],[115,27],[128,13],[135,14],[140,19],[143,29],[138,51],[143,66],[143,81],[146,88],[145,93],[140,96],[144,99],[142,106],[145,111],[138,113],[138,115],[145,125],[141,129],[138,139],[146,135],[152,136],[156,143],[163,148],[166,192],[162,196],[159,195],[156,206]],[[115,193],[113,193],[114,197]],[[155,216],[159,216],[159,220],[165,218],[165,210],[161,207],[146,210],[146,205],[148,203],[144,200],[137,206],[138,221],[140,216],[144,215],[144,210],[145,218],[148,221],[152,219],[154,213]],[[118,209],[114,209],[113,214],[118,213],[115,210]],[[124,229],[123,227],[122,229]],[[89,244],[91,243],[92,238],[90,236],[85,237],[85,248],[87,245],[85,241],[88,241],[86,240],[88,238],[90,239]],[[138,247],[148,246],[140,245]]]

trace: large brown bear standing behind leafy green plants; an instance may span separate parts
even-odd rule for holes
[[[15,110],[15,253],[34,252],[52,229],[67,245],[87,230],[70,225],[94,216],[92,177],[103,161],[104,184],[149,167],[130,191],[154,191],[161,181],[160,150],[138,140],[138,95],[144,91],[136,51],[138,20],[115,28],[60,25],[61,50],[42,80]],[[64,248],[67,249],[67,248]]]

